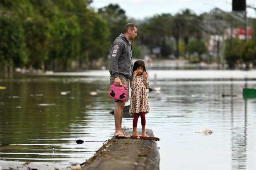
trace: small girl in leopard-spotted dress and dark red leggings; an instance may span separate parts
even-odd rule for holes
[[[130,103],[130,114],[134,114],[133,117],[133,135],[139,136],[137,133],[138,118],[141,115],[142,135],[148,136],[145,133],[146,117],[148,114],[148,94],[146,89],[149,88],[147,72],[145,63],[141,60],[134,62],[133,65],[133,76],[130,79],[131,92],[131,103]]]

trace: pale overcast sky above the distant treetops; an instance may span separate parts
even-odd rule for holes
[[[232,10],[232,0],[93,0],[91,7],[98,9],[108,4],[119,4],[126,11],[127,17],[144,19],[155,14],[177,14],[185,8],[191,9],[199,15],[218,7],[226,12]],[[246,4],[256,8],[256,0],[246,0]],[[256,17],[256,10],[247,7],[247,16]]]

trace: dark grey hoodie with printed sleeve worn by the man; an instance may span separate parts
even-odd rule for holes
[[[111,45],[109,73],[111,77],[123,77],[127,81],[132,75],[132,47],[125,35],[120,34]]]

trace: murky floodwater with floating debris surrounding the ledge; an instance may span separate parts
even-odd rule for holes
[[[0,167],[65,167],[93,156],[115,129],[108,76],[97,70],[0,79]],[[160,138],[160,170],[256,169],[256,98],[242,95],[256,87],[255,70],[148,70],[148,77],[151,88],[161,87],[148,93],[146,115],[146,128]],[[132,127],[132,118],[123,126]],[[195,133],[202,128],[213,133]]]

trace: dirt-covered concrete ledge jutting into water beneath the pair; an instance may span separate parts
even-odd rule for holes
[[[137,131],[141,134],[141,129]],[[132,128],[125,127],[123,132],[131,135]],[[151,129],[146,129],[146,133],[154,137]],[[82,170],[159,170],[159,160],[156,141],[112,138],[81,167]]]

